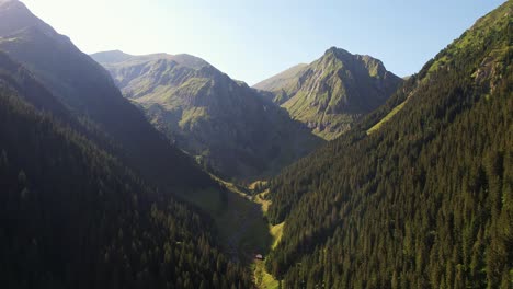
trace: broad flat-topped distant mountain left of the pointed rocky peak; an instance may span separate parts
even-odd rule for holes
[[[284,109],[201,58],[119,51],[92,57],[175,146],[225,177],[270,175],[321,143]]]

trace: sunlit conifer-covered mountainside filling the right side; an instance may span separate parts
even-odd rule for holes
[[[269,185],[287,288],[511,288],[513,2]]]

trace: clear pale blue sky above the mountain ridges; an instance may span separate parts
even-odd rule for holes
[[[86,53],[187,53],[254,84],[331,46],[417,72],[504,0],[22,0]]]

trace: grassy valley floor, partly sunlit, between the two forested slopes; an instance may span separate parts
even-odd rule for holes
[[[254,254],[269,255],[282,239],[284,223],[270,226],[264,216],[270,200],[266,200],[269,190],[254,197],[249,195],[259,183],[249,188],[226,182],[212,175],[228,192],[201,190],[183,194],[190,203],[208,212],[216,223],[219,242],[232,256],[251,267],[256,288],[278,288],[278,281],[266,271],[265,262],[254,259]],[[265,184],[265,182],[260,182]]]

